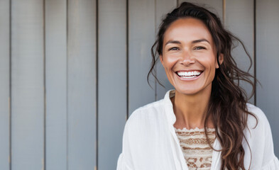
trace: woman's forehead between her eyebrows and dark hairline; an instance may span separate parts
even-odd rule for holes
[[[180,18],[170,24],[164,34],[164,44],[168,40],[192,42],[193,40],[206,39],[212,43],[212,35],[207,26],[196,18]]]

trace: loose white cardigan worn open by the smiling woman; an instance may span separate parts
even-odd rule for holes
[[[117,170],[188,169],[173,127],[176,120],[170,101],[173,95],[174,91],[168,91],[163,100],[138,108],[128,118]],[[251,170],[279,170],[279,161],[273,151],[273,140],[266,115],[252,104],[248,104],[248,111],[257,116],[258,125],[254,128],[256,120],[248,115],[248,129],[244,130],[244,134],[252,152],[250,154],[247,143],[242,142],[245,150],[245,169],[248,169],[251,161]],[[213,147],[221,149],[218,140],[215,140]],[[211,169],[221,169],[221,152],[213,151]]]

